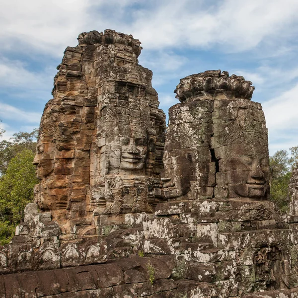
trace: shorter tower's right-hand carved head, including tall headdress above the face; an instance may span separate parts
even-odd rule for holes
[[[219,161],[217,186],[227,197],[268,198],[269,152],[264,113],[252,101],[216,102],[215,155]]]

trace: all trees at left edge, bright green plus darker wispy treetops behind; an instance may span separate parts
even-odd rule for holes
[[[3,132],[0,130],[0,137]],[[10,141],[0,141],[0,244],[9,242],[26,204],[33,200],[38,183],[32,164],[37,133],[19,132]]]

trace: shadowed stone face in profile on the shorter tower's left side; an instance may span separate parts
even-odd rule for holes
[[[194,180],[194,153],[189,149],[166,152],[164,163],[164,196],[176,198],[187,194]]]

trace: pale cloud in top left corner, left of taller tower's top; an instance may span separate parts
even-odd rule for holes
[[[97,3],[101,1],[97,0]],[[5,41],[3,46],[22,51],[19,48],[22,42],[60,56],[65,44],[76,43],[89,5],[89,0],[2,1],[0,27],[5,30],[1,30],[0,38]]]

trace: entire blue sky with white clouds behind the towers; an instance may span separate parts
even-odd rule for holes
[[[298,146],[297,0],[9,0],[0,9],[0,127],[9,139],[39,126],[53,77],[80,32],[114,29],[140,39],[139,62],[167,113],[179,79],[206,70],[256,87],[269,148]]]

